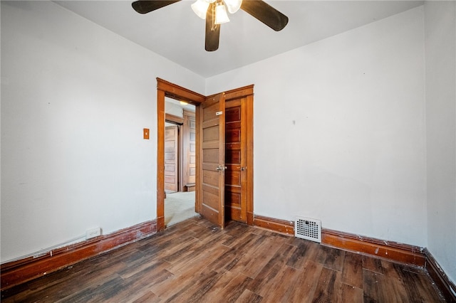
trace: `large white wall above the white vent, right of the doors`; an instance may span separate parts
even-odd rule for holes
[[[427,245],[423,6],[206,80],[254,83],[254,213]]]

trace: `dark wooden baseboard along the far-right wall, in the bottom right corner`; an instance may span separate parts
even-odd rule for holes
[[[432,280],[442,292],[447,302],[456,302],[456,285],[448,279],[442,267],[437,263],[430,252],[425,249],[426,265],[425,268]]]

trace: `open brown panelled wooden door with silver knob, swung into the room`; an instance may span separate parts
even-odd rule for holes
[[[208,97],[198,107],[199,199],[197,210],[224,228],[224,93]]]

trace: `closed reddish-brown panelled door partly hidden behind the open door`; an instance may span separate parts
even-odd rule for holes
[[[225,219],[247,223],[246,97],[225,102]]]

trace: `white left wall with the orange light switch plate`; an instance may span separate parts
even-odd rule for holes
[[[50,1],[1,1],[1,262],[156,218],[156,77],[204,92]]]

